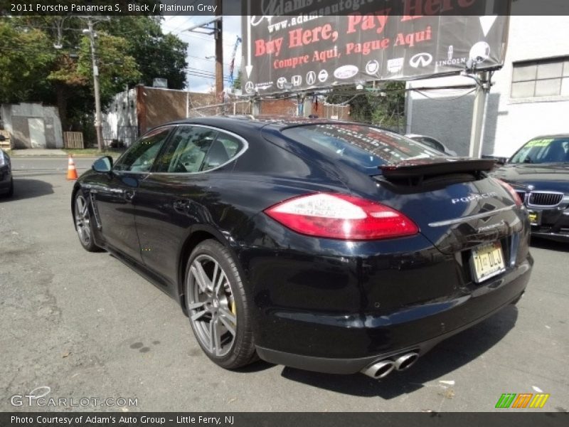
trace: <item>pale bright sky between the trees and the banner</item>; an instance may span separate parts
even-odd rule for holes
[[[162,21],[162,31],[164,33],[173,33],[181,38],[182,41],[188,43],[186,89],[192,92],[207,93],[212,88],[215,88],[216,84],[216,43],[213,34],[208,36],[206,33],[186,31],[187,28],[203,23],[206,20],[205,16],[169,15],[164,16]],[[213,24],[210,26],[213,26]],[[229,65],[238,36],[241,36],[241,16],[223,16],[223,75],[225,76],[223,85],[225,88],[228,88],[229,85],[227,80]],[[235,55],[234,78],[237,77],[240,67],[241,43],[239,43]],[[208,75],[208,77],[201,76],[204,74]]]

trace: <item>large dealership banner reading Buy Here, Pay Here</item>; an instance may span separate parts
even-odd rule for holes
[[[504,63],[508,1],[500,3],[501,14],[489,15],[484,11],[496,12],[491,0],[249,1],[256,0],[245,0],[242,21],[245,95],[412,80]],[[353,11],[354,4],[361,7]]]

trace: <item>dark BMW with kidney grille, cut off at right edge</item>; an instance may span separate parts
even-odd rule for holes
[[[569,241],[569,135],[531,139],[493,175],[527,206],[532,236]]]

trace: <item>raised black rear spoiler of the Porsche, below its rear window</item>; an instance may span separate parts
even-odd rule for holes
[[[447,174],[479,174],[494,168],[494,159],[470,159],[469,157],[435,157],[433,159],[408,159],[379,167],[385,179],[427,178]]]

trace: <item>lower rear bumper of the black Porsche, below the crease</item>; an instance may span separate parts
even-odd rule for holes
[[[406,307],[388,316],[361,315],[317,316],[306,313],[275,312],[267,318],[267,327],[278,325],[296,343],[306,343],[304,352],[287,342],[278,347],[257,346],[261,359],[289,367],[333,374],[353,374],[372,362],[408,351],[421,356],[454,334],[494,315],[511,302],[516,302],[526,289],[533,259],[526,260],[499,278],[489,280],[474,292],[445,303]],[[276,330],[273,330],[276,332]],[[296,349],[287,351],[287,347]],[[311,348],[312,347],[312,348]],[[325,357],[337,353],[339,347],[356,349],[351,357]]]

